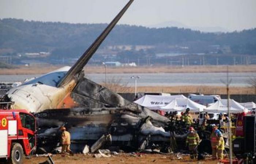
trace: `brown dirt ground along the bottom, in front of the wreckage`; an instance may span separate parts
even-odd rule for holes
[[[48,157],[32,157],[25,159],[25,164],[38,164],[46,161]],[[189,156],[182,156],[177,159],[175,155],[159,155],[159,154],[142,154],[131,156],[123,153],[111,157],[95,158],[93,155],[75,154],[74,156],[53,155],[52,159],[55,164],[216,164],[218,160],[212,161],[210,157],[205,160],[191,160]]]

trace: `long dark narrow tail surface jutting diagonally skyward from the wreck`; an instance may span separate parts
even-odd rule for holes
[[[98,36],[98,38],[91,44],[91,46],[84,52],[84,54],[78,59],[78,61],[69,69],[67,74],[60,80],[57,87],[67,84],[74,76],[82,71],[83,67],[90,60],[91,56],[95,53],[98,47],[101,45],[103,40],[108,36],[109,32],[116,25],[118,20],[123,16],[128,7],[132,4],[133,0],[130,0],[125,7],[117,14],[117,16],[112,20],[112,22],[105,28],[105,30]]]

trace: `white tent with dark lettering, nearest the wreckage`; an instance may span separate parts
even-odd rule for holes
[[[136,104],[147,107],[151,110],[159,110],[161,107],[166,106],[175,98],[187,98],[184,95],[144,95],[142,98],[134,101]]]

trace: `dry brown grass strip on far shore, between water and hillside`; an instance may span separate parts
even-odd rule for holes
[[[18,75],[18,74],[44,74],[59,69],[63,66],[37,65],[37,66],[20,66],[16,69],[0,69],[1,75]],[[86,74],[105,73],[103,66],[86,66]],[[152,66],[152,67],[107,67],[108,73],[219,73],[226,72],[226,66]],[[256,72],[256,65],[237,65],[229,66],[229,72]]]

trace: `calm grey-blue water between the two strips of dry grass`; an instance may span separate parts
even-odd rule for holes
[[[24,82],[27,78],[40,75],[0,75],[0,81]],[[143,74],[107,74],[107,81],[121,79],[121,84],[134,86],[135,79],[139,76],[137,86],[185,86],[185,85],[209,85],[224,86],[227,81],[226,73],[143,73]],[[105,74],[86,74],[86,77],[96,83],[105,82]],[[249,78],[256,77],[256,73],[229,73],[230,86],[248,86]]]

